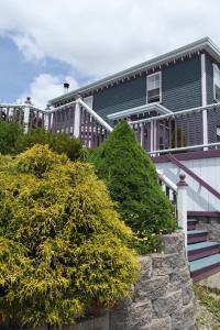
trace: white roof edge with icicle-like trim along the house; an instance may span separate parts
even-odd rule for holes
[[[97,90],[99,88],[103,88],[108,85],[119,82],[119,80],[123,80],[128,77],[134,76],[134,75],[141,75],[142,73],[161,67],[162,65],[169,63],[172,61],[176,61],[178,58],[183,58],[186,55],[191,55],[197,52],[206,51],[208,54],[210,54],[217,62],[220,63],[220,50],[218,46],[207,36],[204,38],[200,38],[194,43],[187,44],[180,48],[177,48],[175,51],[168,52],[164,55],[160,55],[157,57],[154,57],[150,61],[146,61],[144,63],[141,63],[139,65],[132,66],[125,70],[119,72],[114,75],[108,76],[103,79],[94,81],[92,84],[86,85],[84,87],[80,87],[76,90],[69,91],[65,95],[62,95],[57,98],[54,98],[50,100],[48,102],[51,105],[54,105],[56,102],[61,102],[65,99],[69,99],[73,97],[76,97],[77,95],[81,94],[89,94],[94,90]]]

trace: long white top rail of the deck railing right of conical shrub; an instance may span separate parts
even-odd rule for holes
[[[202,107],[196,107],[196,108],[180,110],[180,111],[176,111],[176,112],[172,112],[172,113],[167,113],[167,114],[155,116],[155,117],[151,117],[151,118],[144,118],[144,119],[140,119],[140,120],[129,121],[129,123],[133,125],[133,124],[142,123],[142,122],[151,122],[152,120],[161,120],[161,119],[165,119],[165,118],[176,117],[178,114],[197,112],[197,111],[200,111],[200,110],[209,110],[209,109],[212,109],[212,108],[215,109],[217,107],[220,107],[220,102],[211,103],[211,105],[206,106],[206,107],[204,107],[204,106]]]

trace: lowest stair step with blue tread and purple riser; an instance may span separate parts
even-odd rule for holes
[[[220,253],[189,262],[194,282],[200,280],[220,271]]]

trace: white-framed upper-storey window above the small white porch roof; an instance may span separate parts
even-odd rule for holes
[[[162,73],[146,77],[146,103],[162,102]]]

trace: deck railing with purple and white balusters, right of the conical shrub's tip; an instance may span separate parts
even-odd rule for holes
[[[129,122],[152,155],[220,147],[220,102]]]

